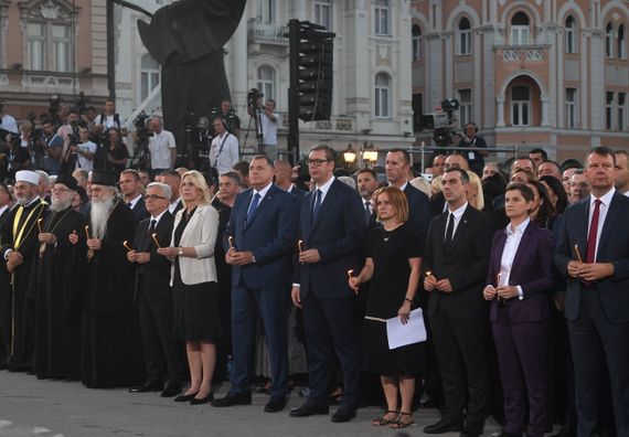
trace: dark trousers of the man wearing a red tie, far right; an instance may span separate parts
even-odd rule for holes
[[[601,402],[600,374],[605,360],[618,436],[629,436],[629,323],[607,320],[596,288],[580,290],[580,308],[568,320],[575,369],[577,430],[579,436],[596,434]]]

